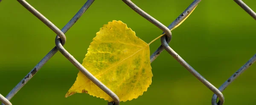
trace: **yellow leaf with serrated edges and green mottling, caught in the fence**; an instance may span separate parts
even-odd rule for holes
[[[136,99],[151,84],[149,44],[135,35],[121,21],[103,25],[93,38],[82,65],[120,99]],[[104,91],[81,72],[65,97],[75,93],[88,93],[113,101]]]

